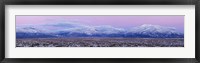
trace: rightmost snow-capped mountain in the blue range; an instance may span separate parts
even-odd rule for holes
[[[164,27],[159,25],[144,24],[133,27],[128,31],[128,34],[133,36],[146,37],[183,37],[183,34],[177,32],[173,27]]]

